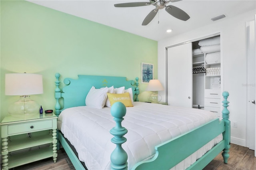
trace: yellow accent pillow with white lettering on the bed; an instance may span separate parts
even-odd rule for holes
[[[133,107],[129,92],[121,94],[107,93],[107,95],[111,106],[120,101],[125,105],[125,107]]]

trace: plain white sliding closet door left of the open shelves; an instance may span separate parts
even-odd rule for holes
[[[192,108],[192,43],[167,49],[168,105]]]

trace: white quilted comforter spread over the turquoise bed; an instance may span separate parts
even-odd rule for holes
[[[122,126],[127,128],[127,142],[122,144],[128,154],[128,169],[141,160],[154,156],[154,146],[202,125],[216,115],[201,109],[185,109],[167,105],[134,102],[126,108]],[[116,147],[110,140],[115,122],[109,107],[94,109],[88,106],[62,111],[58,129],[76,148],[79,159],[89,170],[110,169],[110,154]],[[222,135],[189,156],[174,169],[186,169],[210,148],[222,140]]]

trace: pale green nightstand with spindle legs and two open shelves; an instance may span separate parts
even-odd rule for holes
[[[56,162],[58,156],[56,147],[56,115],[38,113],[37,115],[27,118],[6,116],[0,125],[2,138],[2,170],[8,170],[9,168],[49,157],[53,157],[54,162]],[[39,135],[32,134],[38,132],[40,133]],[[26,136],[26,134],[30,133],[32,136]],[[21,135],[23,138],[15,139],[16,135]],[[10,154],[11,152],[18,152],[24,149],[28,150],[29,148],[44,144],[50,144],[52,147],[38,147],[40,149]]]

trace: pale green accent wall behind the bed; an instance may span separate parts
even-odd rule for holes
[[[91,22],[23,0],[0,1],[0,113],[19,99],[5,95],[6,73],[43,75],[44,93],[31,99],[43,109],[54,109],[55,73],[140,78],[141,63],[154,64],[157,78],[158,42]],[[145,29],[147,29],[145,27]],[[63,85],[63,84],[62,84]],[[146,101],[140,84],[139,99]]]

